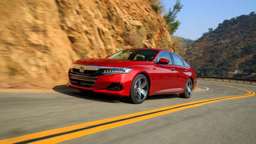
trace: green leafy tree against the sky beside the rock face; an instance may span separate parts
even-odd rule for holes
[[[181,11],[182,7],[183,5],[181,5],[181,1],[176,0],[176,4],[173,6],[173,9],[170,8],[169,11],[164,14],[164,19],[168,25],[170,35],[173,35],[181,24],[180,21],[175,19],[177,18],[177,13]]]

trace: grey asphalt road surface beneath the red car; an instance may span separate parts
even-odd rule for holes
[[[179,98],[177,94],[148,96],[145,102],[138,105],[113,96],[83,94],[64,85],[55,86],[49,92],[0,92],[0,140],[177,104],[248,93],[242,89],[212,84],[256,92],[256,86],[245,84],[198,82],[211,83],[197,84],[209,90],[203,88],[202,91],[195,91],[189,99]],[[255,144],[256,99],[250,96],[191,106],[91,133],[78,138],[64,134],[62,136],[69,138],[62,143]]]

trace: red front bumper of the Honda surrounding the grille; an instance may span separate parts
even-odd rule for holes
[[[72,84],[70,82],[69,73],[68,78],[69,81],[67,83],[67,86],[115,96],[129,96],[131,84],[133,82],[133,75],[131,75],[130,73],[100,75],[91,87],[78,86]],[[108,86],[110,86],[112,83],[121,83],[123,90],[107,90]]]

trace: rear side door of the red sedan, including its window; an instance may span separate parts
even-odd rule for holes
[[[185,67],[183,59],[176,55],[171,53],[171,56],[173,58],[173,67],[177,71],[176,76],[177,76],[177,83],[176,87],[179,89],[185,88],[185,84],[187,83],[187,80],[189,79],[189,73],[190,69],[189,67]]]

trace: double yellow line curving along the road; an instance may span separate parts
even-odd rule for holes
[[[200,83],[200,84],[209,84],[209,83]],[[227,86],[227,85],[222,85],[222,84],[211,84],[211,85],[237,88],[237,89],[245,90],[248,93],[244,94],[244,95],[226,96],[226,97],[221,97],[221,98],[200,100],[200,101],[196,101],[196,102],[188,102],[185,104],[167,106],[167,107],[163,107],[163,108],[152,109],[152,110],[148,110],[148,111],[142,111],[142,112],[132,113],[132,114],[128,114],[128,115],[122,115],[122,116],[118,116],[118,117],[112,117],[109,119],[92,121],[92,122],[83,123],[83,124],[79,124],[79,125],[73,125],[73,126],[69,126],[69,127],[60,128],[60,129],[53,129],[53,130],[49,130],[49,131],[37,132],[37,133],[27,134],[27,135],[23,135],[23,136],[17,136],[14,138],[0,140],[0,144],[26,144],[26,143],[56,144],[56,143],[70,140],[73,138],[86,136],[88,134],[92,134],[95,132],[100,132],[100,131],[104,131],[107,129],[112,129],[114,127],[127,125],[129,123],[142,121],[144,119],[149,119],[149,118],[157,117],[157,116],[164,115],[167,113],[180,111],[182,109],[193,108],[196,106],[202,106],[204,104],[210,104],[210,103],[219,102],[219,101],[223,101],[223,100],[246,98],[246,97],[255,95],[254,92],[252,92],[250,90],[246,90],[244,88],[238,88],[238,87]]]

